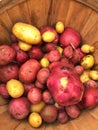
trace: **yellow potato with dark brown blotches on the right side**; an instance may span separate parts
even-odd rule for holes
[[[83,57],[81,61],[81,66],[83,66],[84,69],[90,69],[94,65],[94,57],[93,55],[86,55]]]

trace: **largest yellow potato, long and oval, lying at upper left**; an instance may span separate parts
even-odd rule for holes
[[[18,39],[29,44],[39,44],[41,42],[40,31],[30,24],[18,22],[14,24],[12,32]]]

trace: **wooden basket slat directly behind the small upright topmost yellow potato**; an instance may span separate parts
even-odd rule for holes
[[[57,21],[65,23],[70,0],[53,0],[48,17],[48,24],[54,25]]]

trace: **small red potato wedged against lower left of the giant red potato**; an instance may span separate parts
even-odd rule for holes
[[[47,104],[54,103],[52,95],[51,95],[51,93],[48,90],[43,91],[43,93],[42,93],[42,99]]]

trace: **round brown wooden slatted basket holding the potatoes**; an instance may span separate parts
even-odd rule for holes
[[[98,68],[98,0],[0,0],[0,44],[11,43],[11,28],[18,21],[37,27],[58,20],[78,30],[85,43],[96,48]],[[43,124],[38,130],[98,130],[98,107],[84,111],[68,123]],[[0,130],[34,130],[27,120],[17,121],[7,112],[7,100],[0,97]]]

